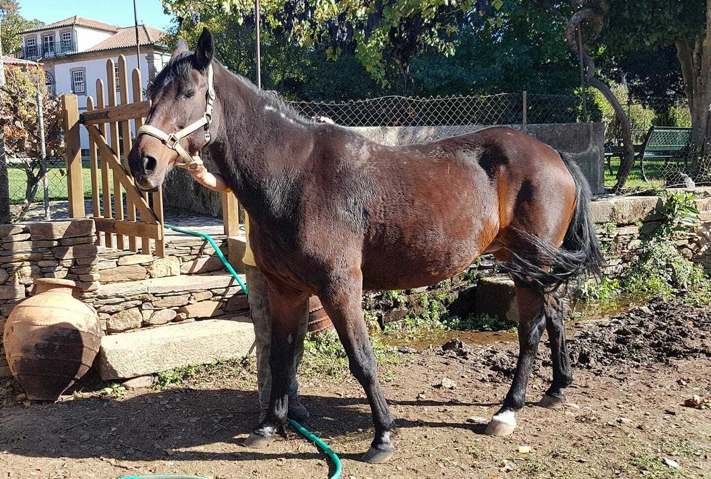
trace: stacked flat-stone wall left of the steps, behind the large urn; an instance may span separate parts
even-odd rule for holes
[[[1,333],[35,279],[73,279],[84,291],[98,289],[95,240],[93,220],[0,225],[0,377],[9,375]]]

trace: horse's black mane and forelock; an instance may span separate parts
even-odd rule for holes
[[[153,80],[153,85],[156,89],[155,91],[166,87],[173,80],[190,80],[191,70],[197,70],[193,60],[194,56],[195,55],[192,52],[183,52],[174,56],[174,58],[171,58],[171,60],[166,63],[163,69],[156,76],[155,80]],[[279,92],[274,90],[260,90],[257,88],[257,85],[252,83],[246,77],[231,72],[229,68],[225,67],[225,65],[217,60],[215,60],[215,63],[218,63],[218,65],[225,68],[225,70],[230,72],[230,75],[235,77],[245,88],[247,88],[247,90],[261,99],[264,106],[268,105],[278,113],[284,114],[284,117],[293,119],[294,121],[304,124],[311,124],[314,122],[313,119],[304,117],[303,114],[296,111],[292,105],[287,103],[287,100],[285,100],[282,95],[279,95]],[[220,85],[215,84],[216,90],[219,90],[219,87]]]

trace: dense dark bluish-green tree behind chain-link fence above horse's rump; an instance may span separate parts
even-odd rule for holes
[[[487,95],[523,90],[556,95],[580,87],[565,18],[530,0],[508,0],[488,17],[469,16],[456,55],[428,50],[412,62],[417,95]]]

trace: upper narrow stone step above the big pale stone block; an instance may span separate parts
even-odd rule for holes
[[[245,275],[240,274],[242,282]],[[86,294],[88,298],[117,298],[121,296],[135,296],[139,294],[171,294],[202,289],[217,289],[239,287],[240,284],[230,273],[186,274],[179,276],[166,276],[164,278],[140,279],[124,283],[102,284],[97,291]]]

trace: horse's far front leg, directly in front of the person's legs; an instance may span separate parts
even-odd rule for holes
[[[272,316],[272,344],[269,350],[269,370],[272,389],[264,420],[245,439],[244,445],[264,448],[274,440],[274,434],[284,428],[289,409],[289,382],[296,375],[294,355],[303,334],[299,333],[301,318],[308,311],[308,294],[269,284],[269,310]]]

